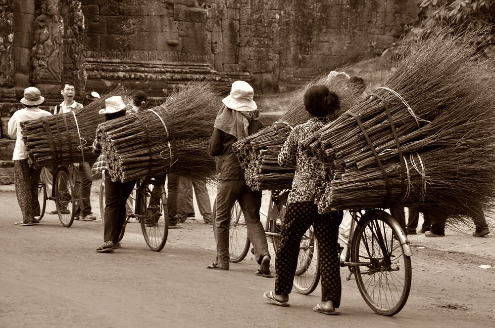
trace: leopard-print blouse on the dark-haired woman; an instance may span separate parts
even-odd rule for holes
[[[326,117],[313,117],[297,125],[282,146],[278,156],[280,166],[296,166],[292,190],[287,203],[312,202],[316,196],[314,181],[319,177],[322,163],[316,157],[308,157],[299,143],[321,129],[330,121]]]

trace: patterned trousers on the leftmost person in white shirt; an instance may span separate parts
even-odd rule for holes
[[[40,215],[40,202],[38,201],[40,173],[41,167],[29,166],[28,159],[14,161],[15,194],[23,221],[31,222],[34,216]]]

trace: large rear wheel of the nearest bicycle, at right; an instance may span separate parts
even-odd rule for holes
[[[353,267],[357,287],[369,307],[385,316],[402,309],[411,289],[411,258],[390,220],[384,211],[366,212],[354,230],[350,257],[351,262],[366,263]]]

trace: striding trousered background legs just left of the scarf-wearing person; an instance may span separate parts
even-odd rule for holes
[[[193,188],[196,195],[199,213],[205,224],[213,224],[211,215],[211,203],[206,188],[206,182],[199,179],[181,176],[179,180],[179,195],[177,197],[177,219],[184,223],[187,218],[195,220],[193,206]]]

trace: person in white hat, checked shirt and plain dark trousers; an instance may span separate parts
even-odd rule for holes
[[[121,96],[113,96],[105,99],[105,108],[99,114],[105,116],[105,121],[117,119],[126,114],[131,106],[126,106]],[[93,154],[99,155],[93,165],[93,175],[107,168],[107,158],[101,152],[101,135],[97,133],[93,142]],[[136,181],[112,181],[109,174],[105,174],[105,218],[103,226],[103,244],[96,248],[97,252],[109,253],[120,248],[119,235],[126,217],[126,201],[136,184]]]

